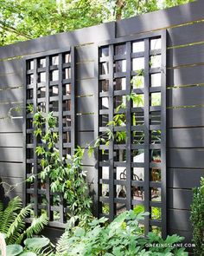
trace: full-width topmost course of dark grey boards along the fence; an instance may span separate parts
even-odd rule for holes
[[[16,57],[16,56],[25,56],[28,54],[35,54],[39,53],[41,51],[47,51],[48,49],[59,49],[69,46],[79,46],[86,43],[99,43],[99,42],[105,42],[106,40],[115,39],[116,37],[120,36],[130,36],[131,30],[126,30],[127,25],[130,25],[131,22],[134,23],[134,34],[139,34],[141,32],[145,33],[150,30],[148,30],[148,26],[152,26],[152,23],[148,23],[148,21],[154,19],[156,16],[161,17],[163,15],[170,15],[173,13],[180,13],[185,14],[185,18],[180,15],[178,17],[180,23],[183,23],[183,19],[188,20],[188,22],[192,22],[192,13],[189,13],[189,9],[193,8],[196,10],[200,10],[198,14],[193,13],[194,16],[201,16],[201,10],[203,10],[201,7],[204,7],[204,2],[201,0],[197,0],[193,3],[186,3],[179,6],[175,6],[169,9],[165,10],[156,10],[154,12],[146,13],[140,16],[134,16],[128,19],[124,19],[118,22],[111,22],[111,23],[101,23],[96,26],[86,27],[79,30],[74,30],[70,32],[63,32],[51,36],[42,36],[39,38],[31,39],[28,41],[23,41],[19,43],[13,43],[10,45],[6,45],[3,47],[0,47],[0,60],[3,61],[4,59]],[[203,17],[203,16],[202,16]],[[196,18],[195,18],[196,19]],[[147,29],[143,27],[144,21],[145,23],[148,23]],[[135,26],[135,23],[141,23],[137,24]],[[179,24],[179,22],[178,22]],[[174,22],[171,20],[169,21],[169,25],[174,25]],[[157,26],[157,25],[156,25]],[[124,30],[125,29],[125,30]],[[161,23],[160,26],[156,27],[157,30],[163,29],[163,23]],[[99,33],[99,30],[101,32]],[[130,30],[130,31],[129,31]]]

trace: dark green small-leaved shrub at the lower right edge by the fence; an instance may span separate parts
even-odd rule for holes
[[[193,226],[194,255],[204,255],[204,178],[201,178],[201,187],[194,188],[190,220]]]

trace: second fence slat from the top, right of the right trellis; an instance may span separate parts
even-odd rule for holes
[[[192,19],[193,20],[193,19]],[[168,29],[168,47],[204,41],[204,22]]]

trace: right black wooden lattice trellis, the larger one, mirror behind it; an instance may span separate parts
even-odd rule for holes
[[[98,214],[112,220],[124,210],[143,207],[150,212],[143,221],[145,233],[156,229],[163,236],[166,233],[165,62],[165,32],[129,36],[99,45],[98,135],[107,141],[105,130],[110,128],[115,139],[109,145],[99,146]],[[116,115],[120,115],[120,123],[108,124]]]

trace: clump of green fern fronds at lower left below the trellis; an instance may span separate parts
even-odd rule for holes
[[[15,197],[10,200],[8,207],[3,209],[3,202],[0,201],[0,233],[6,235],[6,244],[21,244],[26,237],[40,233],[42,228],[48,224],[46,215],[41,215],[26,227],[24,219],[33,211],[31,206],[22,207],[22,200]]]

